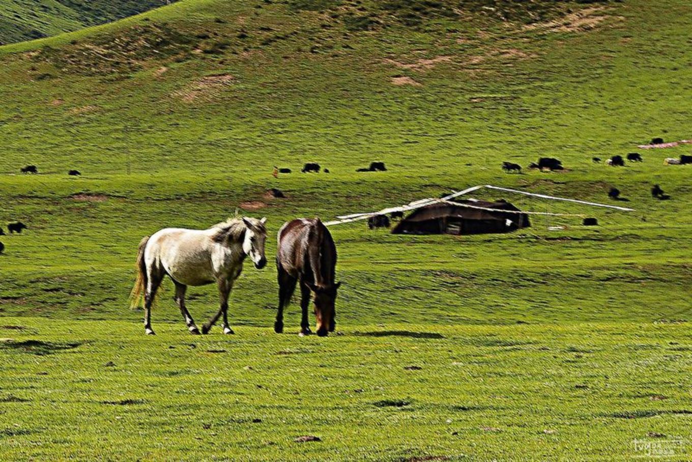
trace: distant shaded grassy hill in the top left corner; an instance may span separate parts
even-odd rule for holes
[[[0,45],[116,21],[166,3],[165,0],[2,0]]]

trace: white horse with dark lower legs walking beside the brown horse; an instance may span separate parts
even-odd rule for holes
[[[224,333],[233,333],[228,326],[228,295],[233,282],[243,269],[243,261],[250,256],[258,270],[266,266],[264,241],[266,218],[235,218],[212,226],[208,230],[165,228],[139,243],[137,255],[138,275],[131,293],[131,306],[139,305],[144,295],[144,329],[153,335],[151,324],[152,302],[163,277],[168,275],[175,284],[175,300],[190,333],[199,334],[188,308],[185,290],[188,286],[216,283],[221,306],[216,315],[202,326],[208,333],[221,315],[224,315]]]

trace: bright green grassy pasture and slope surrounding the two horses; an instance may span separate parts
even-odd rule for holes
[[[692,171],[663,160],[692,147],[591,159],[692,138],[691,23],[682,0],[185,0],[0,47],[0,223],[29,226],[0,237],[3,459],[627,460],[635,438],[681,438],[689,460]],[[567,170],[500,169],[539,156]],[[355,172],[371,160],[388,172]],[[269,329],[271,266],[238,281],[233,337],[189,335],[170,284],[156,337],[128,308],[159,228],[267,216],[271,261],[296,216],[480,184],[598,202],[615,186],[635,212],[507,194],[601,225],[335,226],[326,339],[295,335],[295,305]],[[190,295],[196,320],[215,310],[212,288]]]

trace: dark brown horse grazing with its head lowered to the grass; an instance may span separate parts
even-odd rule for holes
[[[284,223],[277,237],[276,266],[279,277],[279,309],[274,331],[284,331],[284,307],[291,301],[295,284],[300,281],[300,335],[311,333],[307,306],[315,293],[317,335],[334,332],[336,312],[334,300],[340,282],[334,282],[336,246],[327,227],[320,219],[295,219]]]

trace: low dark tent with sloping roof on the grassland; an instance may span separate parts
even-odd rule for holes
[[[483,234],[511,232],[531,226],[528,214],[507,211],[520,212],[517,207],[503,199],[496,202],[465,199],[434,203],[415,210],[399,221],[392,233]]]

